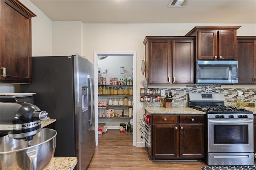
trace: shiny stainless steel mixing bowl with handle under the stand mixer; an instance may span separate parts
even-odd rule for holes
[[[0,138],[0,169],[1,170],[42,170],[52,159],[56,147],[57,132],[42,128],[33,137],[31,146],[22,139]]]

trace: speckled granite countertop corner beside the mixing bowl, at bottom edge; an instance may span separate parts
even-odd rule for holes
[[[52,158],[50,164],[44,170],[73,170],[76,166],[76,157]]]

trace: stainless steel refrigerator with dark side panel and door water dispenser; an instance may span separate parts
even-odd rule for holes
[[[77,170],[85,170],[95,150],[94,66],[72,56],[32,57],[32,83],[21,92],[34,94],[35,105],[56,121],[54,157],[77,157]]]

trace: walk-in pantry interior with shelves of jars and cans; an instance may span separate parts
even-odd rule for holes
[[[127,132],[128,123],[133,125],[133,57],[132,54],[97,56],[98,123],[106,124],[108,129],[120,129],[122,125]]]

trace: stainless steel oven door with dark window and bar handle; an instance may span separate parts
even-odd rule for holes
[[[208,152],[253,151],[253,119],[208,119]]]

